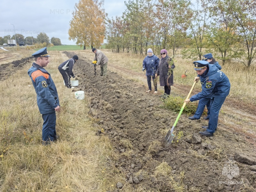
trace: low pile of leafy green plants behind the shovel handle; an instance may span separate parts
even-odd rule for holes
[[[180,109],[184,104],[184,100],[185,98],[174,97],[170,95],[169,98],[163,99],[164,105],[162,107],[165,109],[170,109],[176,113],[179,113]],[[196,108],[197,108],[197,103],[189,102],[183,109],[183,113],[190,115],[196,112]]]

